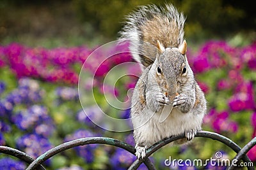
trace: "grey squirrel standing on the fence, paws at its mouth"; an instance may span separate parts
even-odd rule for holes
[[[129,40],[132,57],[143,66],[131,100],[136,157],[148,146],[184,134],[191,141],[207,110],[204,92],[186,56],[185,18],[172,4],[141,6],[127,17],[120,40]]]

